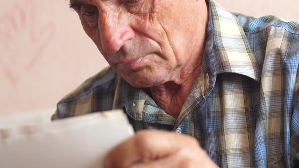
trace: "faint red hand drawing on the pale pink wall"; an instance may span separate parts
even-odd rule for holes
[[[0,14],[0,71],[13,86],[39,62],[55,35],[54,22],[37,21],[36,2],[20,0]]]

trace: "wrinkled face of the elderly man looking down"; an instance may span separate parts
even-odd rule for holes
[[[194,52],[202,0],[71,0],[109,65],[134,87],[175,78]]]

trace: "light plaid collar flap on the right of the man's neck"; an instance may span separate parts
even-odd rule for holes
[[[231,72],[259,82],[257,60],[236,16],[213,0],[208,1],[208,6],[209,22],[202,61],[203,75]]]

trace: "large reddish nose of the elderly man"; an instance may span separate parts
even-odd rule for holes
[[[134,31],[129,26],[129,18],[116,12],[104,12],[99,16],[99,31],[102,49],[106,53],[115,53],[134,38]]]

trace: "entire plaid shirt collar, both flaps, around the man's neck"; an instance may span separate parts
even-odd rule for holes
[[[215,85],[216,75],[238,73],[256,81],[260,80],[258,64],[242,26],[236,17],[220,7],[215,1],[207,2],[209,22],[200,76],[195,81],[182,112],[192,106],[201,96],[209,95]],[[129,85],[119,75],[116,78],[113,108],[125,108],[135,120],[152,123],[174,124],[175,118],[165,113],[144,90]],[[158,115],[157,115],[158,114]],[[149,117],[144,117],[144,115]],[[178,120],[184,117],[181,113]],[[166,119],[165,119],[166,118]]]

